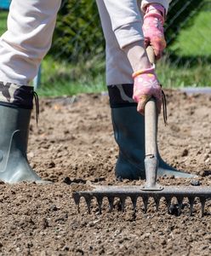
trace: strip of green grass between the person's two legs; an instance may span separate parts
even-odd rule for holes
[[[93,68],[94,67],[94,68]],[[93,61],[73,66],[67,61],[54,61],[46,56],[42,62],[41,96],[68,96],[106,90],[104,63]]]

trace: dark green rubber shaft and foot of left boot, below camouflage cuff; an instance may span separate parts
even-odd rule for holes
[[[37,176],[27,160],[30,118],[31,109],[0,104],[0,180],[5,183],[49,183]]]

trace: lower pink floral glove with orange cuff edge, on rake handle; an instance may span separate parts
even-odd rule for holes
[[[145,103],[153,96],[157,101],[157,112],[161,113],[162,89],[154,72],[154,67],[133,73],[133,78],[133,99],[138,103],[137,111],[144,114]]]

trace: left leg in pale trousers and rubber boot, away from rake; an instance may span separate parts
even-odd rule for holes
[[[26,150],[35,95],[29,82],[52,41],[60,0],[13,0],[0,38],[0,179],[42,182]]]

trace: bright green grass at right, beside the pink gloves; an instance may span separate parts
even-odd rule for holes
[[[170,57],[157,64],[164,86],[211,86],[211,4],[198,13],[193,24],[180,31],[169,47]],[[172,55],[174,53],[174,56]]]

